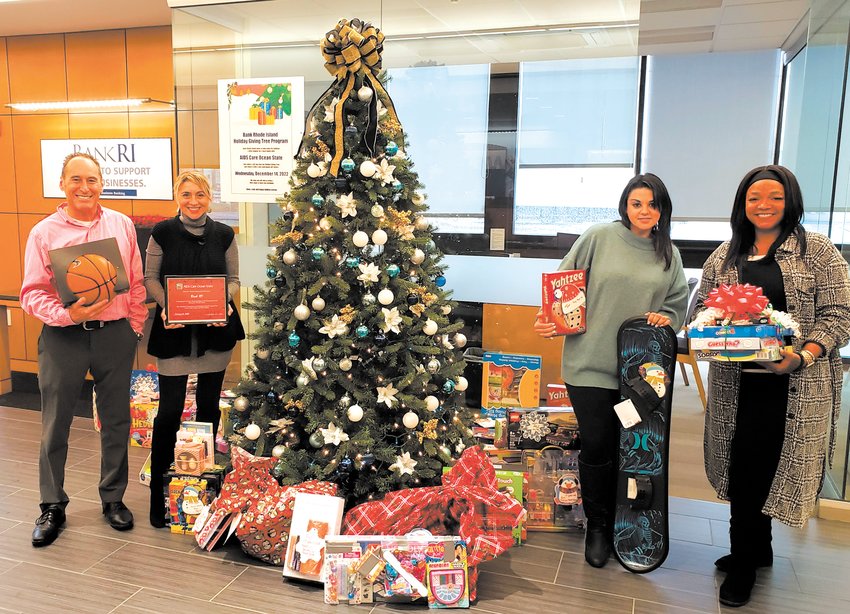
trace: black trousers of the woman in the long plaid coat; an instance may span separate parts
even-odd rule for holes
[[[742,373],[729,465],[729,540],[732,554],[753,565],[770,549],[770,516],[761,509],[776,475],[785,440],[787,375]]]

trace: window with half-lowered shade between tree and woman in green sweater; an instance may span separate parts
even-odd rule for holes
[[[520,65],[514,234],[578,234],[618,217],[637,88],[636,57]]]

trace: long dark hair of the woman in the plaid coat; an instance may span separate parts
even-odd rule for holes
[[[747,219],[747,190],[756,181],[763,179],[774,179],[785,189],[785,213],[780,223],[779,236],[770,246],[765,258],[773,258],[776,249],[792,234],[797,237],[797,242],[800,244],[800,255],[806,253],[806,231],[800,223],[803,219],[803,193],[797,178],[784,166],[775,164],[759,166],[744,175],[738,185],[738,192],[735,194],[735,202],[732,205],[732,216],[729,218],[729,225],[732,226],[732,240],[729,241],[729,251],[723,261],[724,268],[737,267],[749,256],[755,245],[756,229]]]

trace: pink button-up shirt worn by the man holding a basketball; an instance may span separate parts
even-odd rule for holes
[[[75,322],[62,305],[48,252],[51,249],[79,245],[115,237],[130,290],[116,296],[98,319],[120,320],[128,318],[137,333],[142,332],[148,316],[145,309],[145,285],[142,274],[142,257],[136,241],[133,222],[123,213],[98,207],[91,225],[75,220],[66,212],[67,203],[56,208],[56,213],[36,224],[27,239],[24,256],[24,282],[21,287],[21,307],[48,326],[73,326]]]

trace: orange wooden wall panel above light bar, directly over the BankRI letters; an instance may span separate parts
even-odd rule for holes
[[[68,98],[127,98],[127,53],[124,30],[65,35]]]

